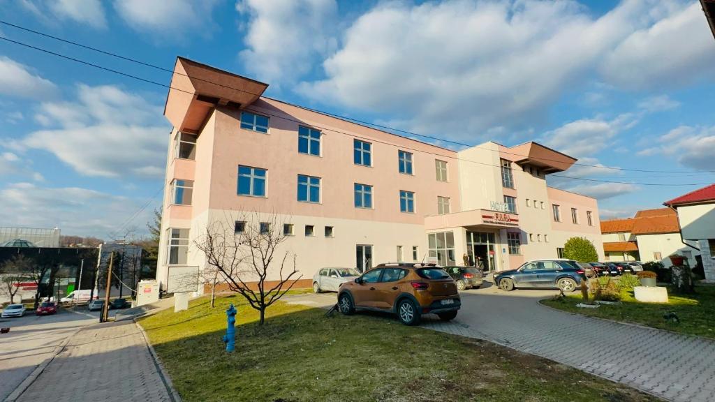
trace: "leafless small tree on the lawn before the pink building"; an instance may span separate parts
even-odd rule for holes
[[[220,278],[233,292],[240,293],[260,312],[260,325],[265,322],[265,310],[287,293],[302,275],[286,267],[290,253],[279,250],[287,240],[283,231],[285,223],[276,213],[250,216],[241,215],[235,220],[225,215],[208,225],[206,232],[194,241],[194,245],[206,255],[207,264],[215,269]],[[238,230],[237,230],[238,229]],[[277,279],[269,280],[268,278]]]

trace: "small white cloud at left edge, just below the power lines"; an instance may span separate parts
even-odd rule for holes
[[[9,57],[0,56],[0,94],[21,98],[54,97],[57,87],[48,79]]]

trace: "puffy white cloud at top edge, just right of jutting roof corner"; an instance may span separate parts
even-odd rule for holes
[[[315,57],[337,47],[335,0],[242,0],[236,9],[251,17],[239,57],[248,72],[274,86],[307,74]]]

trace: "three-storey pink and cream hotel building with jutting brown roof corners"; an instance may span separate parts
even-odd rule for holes
[[[310,286],[323,267],[394,261],[492,270],[556,258],[573,236],[603,258],[598,205],[546,185],[576,160],[536,142],[455,152],[262,97],[267,84],[178,58],[157,279],[205,265],[215,220],[287,217],[282,247]],[[251,214],[253,215],[253,214]]]

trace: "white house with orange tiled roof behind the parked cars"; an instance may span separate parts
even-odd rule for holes
[[[670,266],[669,255],[681,254],[690,266],[699,250],[683,242],[678,216],[670,208],[641,210],[627,219],[601,221],[603,251],[608,261],[658,261]]]

